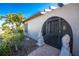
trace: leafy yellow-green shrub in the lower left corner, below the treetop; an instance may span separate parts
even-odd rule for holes
[[[24,35],[23,33],[13,32],[12,30],[4,30],[1,38],[2,39],[0,39],[0,41],[2,42],[2,44],[0,45],[0,55],[6,56],[12,54],[11,47],[14,47],[16,50],[16,47],[19,48],[22,46],[21,43],[24,39]]]

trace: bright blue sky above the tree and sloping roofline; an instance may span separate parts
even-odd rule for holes
[[[57,6],[56,3],[0,3],[0,15],[8,13],[22,13],[26,18],[43,11],[49,6]],[[0,21],[2,24],[3,21]]]

